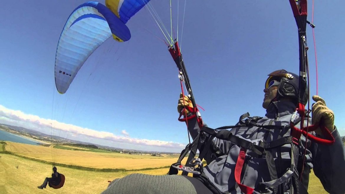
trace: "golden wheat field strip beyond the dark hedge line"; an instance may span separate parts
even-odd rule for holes
[[[91,168],[142,169],[158,168],[171,165],[177,158],[141,156],[119,153],[85,152],[52,147],[7,142],[6,150],[18,155],[61,164],[85,166]],[[52,154],[53,153],[53,154]],[[183,162],[186,161],[184,159]]]

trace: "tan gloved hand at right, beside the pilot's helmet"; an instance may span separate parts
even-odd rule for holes
[[[326,106],[325,100],[319,96],[314,95],[313,100],[316,102],[312,106],[312,124],[323,124],[329,131],[334,130],[334,113]],[[319,135],[322,135],[320,129],[315,130]]]

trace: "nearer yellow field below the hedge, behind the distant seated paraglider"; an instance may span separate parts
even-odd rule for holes
[[[50,164],[43,164],[10,154],[0,153],[0,156],[1,194],[95,194],[104,191],[109,184],[108,181],[115,178],[132,173],[162,175],[169,171],[169,168],[160,168],[146,171],[107,173],[57,166],[58,172],[66,176],[64,186],[58,190],[50,187],[40,190],[37,186],[41,185],[46,177],[51,176],[52,166]]]

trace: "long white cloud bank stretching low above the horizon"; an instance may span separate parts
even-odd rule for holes
[[[161,140],[150,140],[150,139],[139,139],[139,138],[130,138],[129,134],[126,130],[122,130],[122,134],[125,136],[117,136],[113,133],[104,132],[104,131],[97,131],[89,128],[82,128],[79,126],[66,124],[58,122],[57,120],[52,119],[45,119],[40,118],[36,115],[30,115],[23,113],[20,110],[11,110],[2,105],[0,105],[0,122],[6,121],[7,124],[22,126],[22,127],[36,127],[32,128],[35,130],[39,130],[41,132],[49,132],[50,134],[51,128],[58,129],[63,132],[72,133],[74,135],[82,135],[96,139],[105,139],[112,142],[118,143],[125,143],[125,144],[136,144],[136,145],[144,145],[144,146],[158,146],[164,148],[171,148],[171,149],[181,149],[184,148],[185,145],[176,142],[167,142]],[[73,135],[74,134],[74,135]]]

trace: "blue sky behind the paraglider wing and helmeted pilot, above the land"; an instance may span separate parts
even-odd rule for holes
[[[131,39],[108,39],[85,62],[65,95],[54,82],[56,46],[65,22],[82,0],[4,1],[0,12],[0,122],[62,137],[130,149],[180,152],[188,143],[177,120],[178,69],[147,9],[127,26]],[[104,1],[99,1],[104,3]],[[151,0],[170,29],[169,1]],[[263,116],[267,74],[298,72],[297,27],[289,1],[188,1],[179,40],[191,86],[210,127],[236,124],[249,111]],[[177,1],[172,1],[177,26]],[[312,3],[308,4],[308,20]],[[319,96],[344,121],[344,1],[317,1],[314,9]],[[311,94],[316,94],[312,29],[307,28]],[[63,124],[64,123],[64,124]],[[65,125],[66,124],[66,125]],[[67,125],[68,124],[68,125]],[[67,133],[68,131],[68,133]],[[86,135],[82,135],[85,133]],[[105,137],[111,136],[110,140]]]

